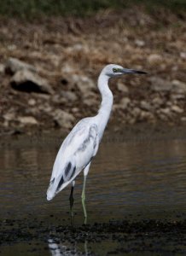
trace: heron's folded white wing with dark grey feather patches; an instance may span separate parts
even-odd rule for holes
[[[56,156],[48,198],[53,198],[61,189],[87,166],[96,155],[99,145],[98,127],[92,118],[82,119],[68,134]]]

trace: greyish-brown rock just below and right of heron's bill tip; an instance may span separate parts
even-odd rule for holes
[[[171,82],[159,77],[152,77],[149,79],[151,82],[151,88],[154,91],[170,91],[172,88]]]

